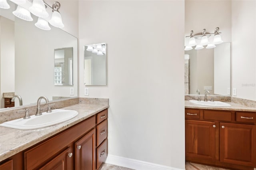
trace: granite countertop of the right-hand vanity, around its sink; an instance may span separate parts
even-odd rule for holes
[[[231,106],[229,107],[209,107],[209,106],[200,106],[200,105],[195,105],[191,103],[190,101],[185,101],[185,108],[190,108],[190,109],[214,109],[214,110],[223,110],[223,111],[250,111],[250,112],[256,112],[256,108],[254,107],[247,107],[244,105],[239,105],[236,103],[232,102],[224,102],[228,103]]]

